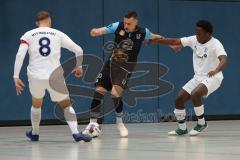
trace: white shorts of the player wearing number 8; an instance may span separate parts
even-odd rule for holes
[[[41,79],[35,79],[35,78],[28,78],[29,82],[29,90],[31,95],[34,98],[41,99],[44,97],[46,90],[50,94],[51,100],[54,102],[61,102],[62,100],[69,97],[67,86],[65,86],[65,91],[63,93],[60,93],[54,89],[49,84],[49,80],[41,80]],[[61,85],[62,87],[62,85]]]

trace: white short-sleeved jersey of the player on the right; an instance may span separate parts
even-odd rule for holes
[[[208,73],[219,65],[218,57],[227,55],[221,42],[214,37],[205,44],[199,43],[196,36],[183,37],[181,43],[184,47],[189,46],[193,50],[193,68],[196,78],[207,77]],[[222,72],[216,76],[223,79]]]

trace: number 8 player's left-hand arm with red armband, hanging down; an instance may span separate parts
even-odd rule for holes
[[[29,44],[26,39],[21,39],[20,46],[15,59],[13,78],[14,78],[17,95],[20,95],[23,91],[23,88],[25,87],[24,83],[19,78],[19,74],[22,68],[24,58],[28,51],[28,45]]]

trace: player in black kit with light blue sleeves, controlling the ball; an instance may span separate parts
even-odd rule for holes
[[[93,37],[110,33],[115,35],[114,42],[116,45],[98,75],[91,104],[90,123],[83,132],[91,135],[92,124],[99,123],[98,119],[100,118],[100,108],[104,94],[110,91],[115,105],[116,124],[120,137],[127,137],[128,130],[124,126],[122,119],[123,102],[121,96],[127,87],[131,72],[134,70],[142,42],[149,39],[159,39],[162,36],[153,34],[147,28],[138,26],[135,11],[127,11],[123,22],[115,22],[107,27],[93,28],[90,32]],[[100,128],[98,132],[101,132]]]

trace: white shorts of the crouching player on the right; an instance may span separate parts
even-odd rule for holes
[[[200,84],[204,84],[207,87],[208,93],[205,95],[209,96],[211,93],[216,91],[222,83],[222,79],[217,77],[205,77],[205,78],[196,78],[193,77],[190,81],[188,81],[182,88],[188,92],[189,94]]]

